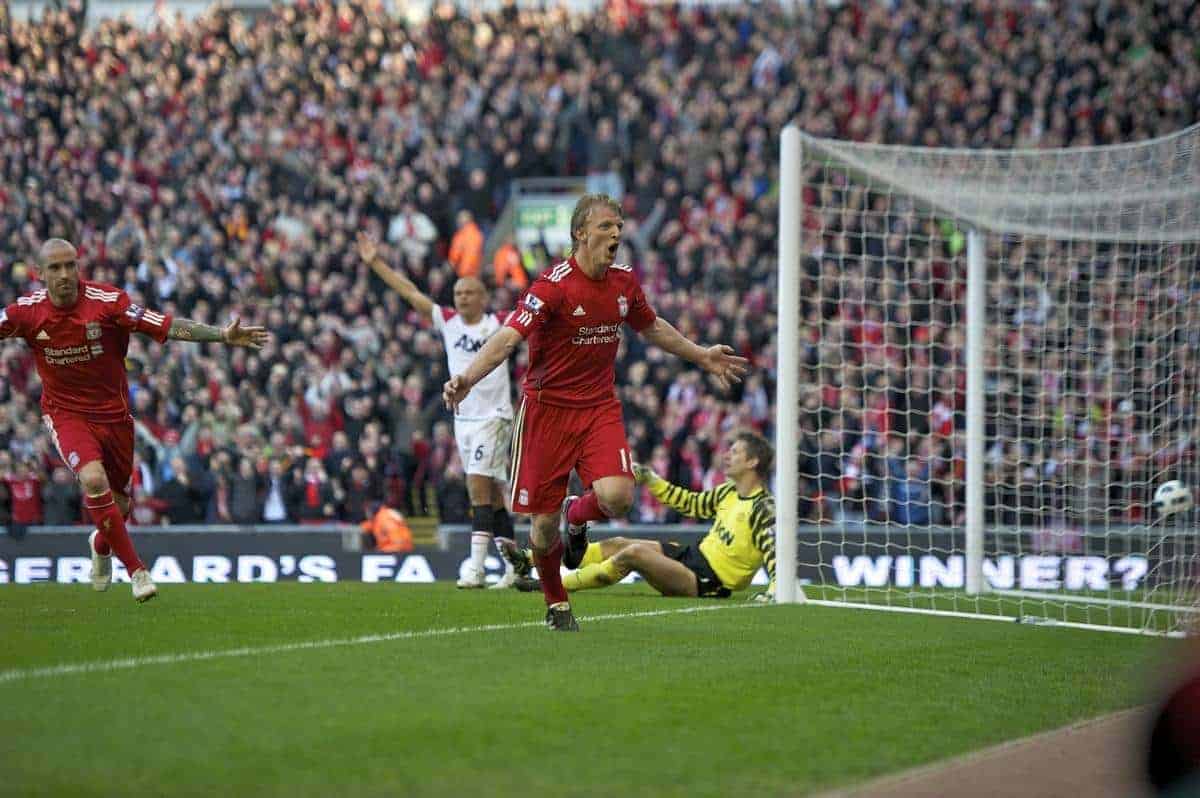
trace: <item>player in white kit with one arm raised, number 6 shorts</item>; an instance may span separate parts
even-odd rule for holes
[[[496,313],[484,311],[487,292],[475,277],[458,280],[454,287],[454,308],[442,307],[421,293],[412,280],[384,263],[376,242],[364,233],[359,234],[359,256],[418,313],[433,322],[433,329],[442,334],[451,376],[462,373],[484,342],[504,324]],[[470,563],[458,580],[458,587],[482,588],[487,586],[484,574],[487,545],[493,538],[512,536],[512,517],[504,506],[509,446],[512,442],[512,392],[506,368],[497,368],[488,374],[475,386],[469,400],[458,407],[454,436],[467,473],[473,529]],[[518,577],[506,559],[500,557],[500,562],[504,563],[504,576],[493,588],[536,589],[532,580]]]

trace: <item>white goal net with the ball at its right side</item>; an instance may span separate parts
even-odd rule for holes
[[[799,502],[780,502],[780,569],[794,552],[810,601],[1200,619],[1195,510],[1151,505],[1200,485],[1198,142],[785,132],[776,491]]]

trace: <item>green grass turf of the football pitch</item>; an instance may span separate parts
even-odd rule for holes
[[[739,602],[744,604],[744,602]],[[62,664],[540,620],[446,584],[0,588],[0,793],[803,794],[1138,703],[1169,641],[644,587],[538,626],[12,677]]]

